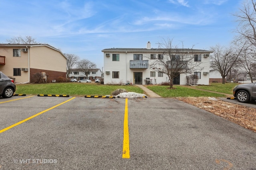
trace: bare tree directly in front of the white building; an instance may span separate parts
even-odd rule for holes
[[[194,70],[202,70],[200,68],[201,62],[194,62],[194,50],[178,48],[178,45],[173,45],[172,39],[163,39],[159,44],[158,56],[150,56],[149,66],[156,72],[162,72],[169,78],[170,88],[173,88],[173,80],[183,73],[194,73]],[[198,56],[199,57],[199,56]],[[149,58],[149,57],[148,57]],[[154,60],[152,60],[152,58]],[[201,58],[200,58],[201,60]]]

